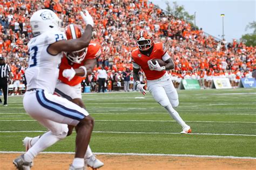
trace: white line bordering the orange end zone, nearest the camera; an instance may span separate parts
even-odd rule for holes
[[[25,153],[16,151],[0,151],[0,153]],[[41,152],[43,154],[75,154],[75,152]],[[196,157],[196,158],[227,158],[227,159],[256,159],[254,157],[233,157],[219,155],[192,155],[192,154],[151,154],[151,153],[104,153],[95,152],[96,155],[130,155],[130,156],[153,156],[153,157]]]

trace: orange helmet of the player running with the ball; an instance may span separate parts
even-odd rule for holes
[[[153,46],[153,36],[150,31],[142,30],[139,32],[139,35],[137,36],[137,45],[139,47],[139,50],[146,51]]]

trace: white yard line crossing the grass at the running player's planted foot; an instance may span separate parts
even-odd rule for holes
[[[29,133],[29,132],[46,132],[46,131],[0,131],[0,133]],[[180,134],[171,132],[109,132],[109,131],[93,131],[93,133],[123,133],[123,134]],[[181,135],[181,134],[180,134]],[[227,135],[227,136],[245,136],[256,137],[256,134],[226,134],[226,133],[190,133],[187,135]]]

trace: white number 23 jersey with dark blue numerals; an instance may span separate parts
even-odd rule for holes
[[[63,39],[66,39],[65,33],[49,31],[29,41],[29,67],[25,71],[28,90],[43,89],[49,93],[54,92],[63,52],[52,56],[48,53],[48,46]]]

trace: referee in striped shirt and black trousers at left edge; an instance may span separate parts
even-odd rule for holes
[[[11,68],[8,64],[5,64],[4,58],[0,57],[0,90],[2,89],[4,93],[4,104],[3,106],[7,105],[7,98],[8,98],[8,83],[11,78]],[[2,100],[0,99],[0,103]]]

